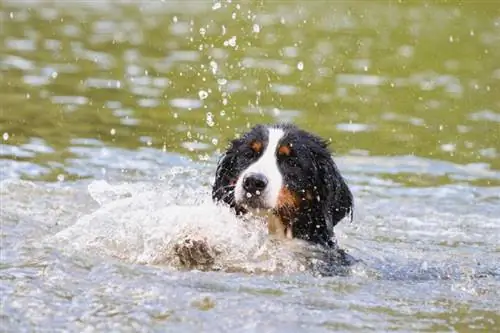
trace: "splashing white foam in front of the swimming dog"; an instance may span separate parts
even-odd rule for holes
[[[100,207],[50,239],[73,254],[179,268],[175,246],[190,239],[217,250],[208,269],[304,269],[293,255],[296,247],[286,251],[270,241],[263,221],[236,217],[227,207],[212,203],[207,189],[95,181],[89,193]]]

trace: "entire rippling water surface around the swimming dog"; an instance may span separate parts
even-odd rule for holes
[[[495,2],[0,13],[2,331],[498,331]],[[332,141],[348,275],[210,203],[227,140],[276,120]]]

